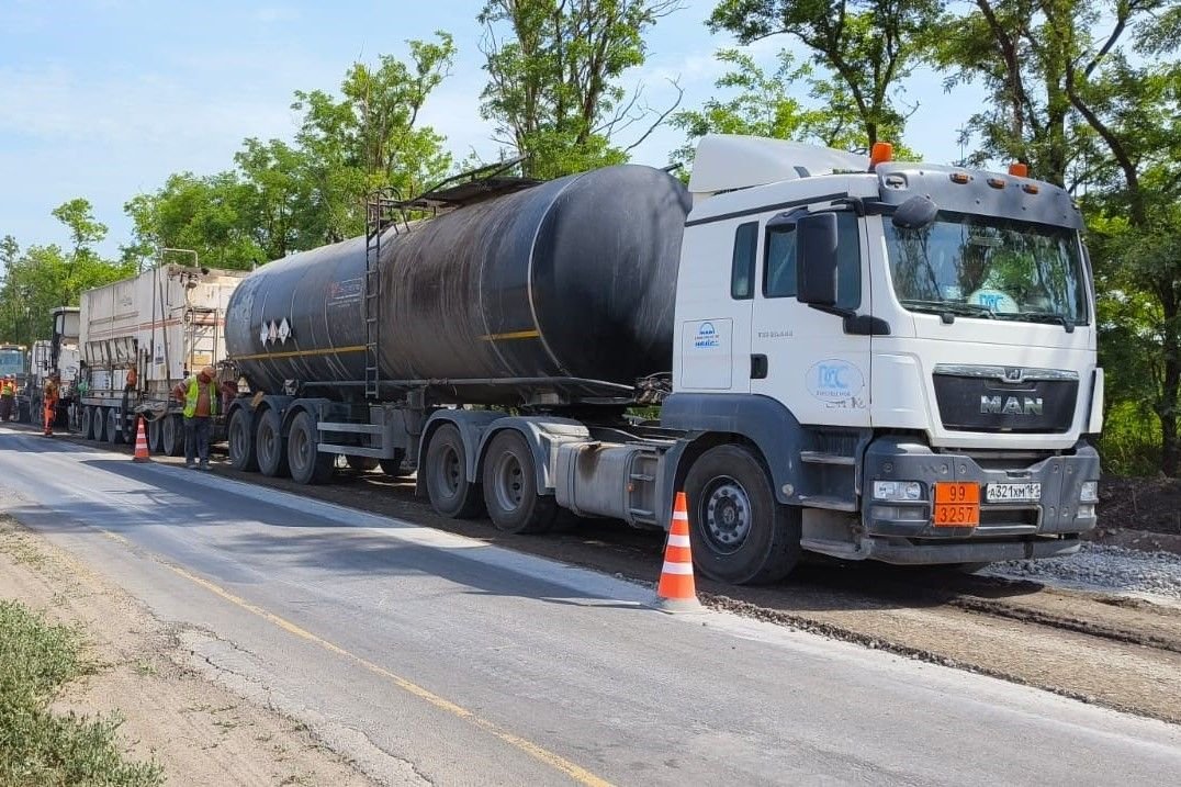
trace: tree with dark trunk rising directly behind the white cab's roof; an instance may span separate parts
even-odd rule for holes
[[[902,138],[901,83],[926,54],[938,19],[935,0],[722,0],[710,27],[750,44],[785,33],[847,91],[861,144]]]

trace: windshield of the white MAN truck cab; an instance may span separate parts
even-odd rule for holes
[[[883,225],[894,291],[911,311],[1087,323],[1074,229],[944,212],[921,229]]]

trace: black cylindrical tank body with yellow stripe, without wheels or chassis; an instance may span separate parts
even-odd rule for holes
[[[457,402],[516,403],[539,378],[576,398],[563,381],[631,385],[668,371],[689,209],[674,177],[621,165],[387,229],[370,316],[384,398],[431,381]],[[226,339],[252,388],[337,383],[342,398],[361,396],[365,261],[355,238],[239,285]]]

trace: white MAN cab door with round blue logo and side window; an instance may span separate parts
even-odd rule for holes
[[[827,203],[816,208],[831,209]],[[796,300],[800,215],[782,214],[763,229],[751,392],[782,402],[804,424],[868,427],[869,337],[846,333],[842,317]],[[837,307],[870,314],[864,219],[852,209],[837,210]]]

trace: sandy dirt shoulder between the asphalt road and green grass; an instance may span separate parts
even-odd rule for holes
[[[54,709],[118,714],[130,757],[155,760],[175,785],[371,785],[301,722],[203,676],[187,644],[204,632],[157,620],[68,553],[0,516],[0,597],[81,626],[93,674]]]

